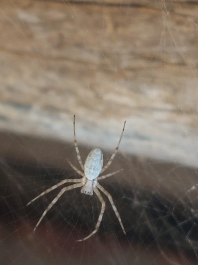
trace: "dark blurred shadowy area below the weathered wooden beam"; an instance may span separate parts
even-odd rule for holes
[[[110,172],[123,165],[125,171],[115,178],[101,180],[100,184],[112,195],[127,234],[123,234],[103,196],[106,210],[98,233],[87,241],[76,242],[95,227],[101,209],[96,196],[81,194],[79,188],[67,191],[35,233],[37,221],[62,187],[26,206],[60,180],[79,178],[65,162],[68,157],[78,167],[73,145],[1,136],[1,264],[198,263],[196,183],[187,185],[183,181],[187,176],[188,180],[196,179],[196,169],[118,155]],[[82,147],[80,151],[85,158],[88,150]],[[138,176],[142,183],[137,182]],[[174,192],[173,187],[167,189],[159,183],[160,178],[168,181],[174,176],[183,189]]]

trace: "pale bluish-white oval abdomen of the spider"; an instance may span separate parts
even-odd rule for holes
[[[103,166],[103,154],[100,148],[93,149],[87,156],[84,164],[84,174],[92,180],[100,175]]]

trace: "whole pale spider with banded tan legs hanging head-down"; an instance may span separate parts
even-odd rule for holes
[[[67,186],[67,187],[64,187],[61,189],[61,191],[58,193],[58,195],[54,198],[54,200],[48,205],[48,207],[45,209],[45,211],[43,212],[41,218],[39,219],[38,223],[36,224],[35,228],[34,228],[34,231],[36,230],[36,228],[39,226],[41,220],[44,218],[44,216],[46,215],[46,213],[51,209],[51,207],[58,201],[58,199],[60,198],[60,196],[63,195],[63,193],[65,191],[69,191],[71,189],[75,189],[75,188],[79,188],[79,187],[82,187],[81,188],[81,193],[84,193],[84,194],[87,194],[87,195],[93,195],[93,192],[96,193],[96,196],[98,197],[98,199],[100,200],[101,202],[101,211],[100,211],[100,215],[98,217],[98,221],[97,221],[97,224],[95,226],[95,230],[93,232],[91,232],[88,236],[82,238],[82,239],[79,239],[77,240],[78,242],[79,241],[84,241],[86,239],[88,239],[89,237],[91,237],[92,235],[94,235],[99,227],[100,227],[100,224],[101,224],[101,221],[102,221],[102,217],[103,217],[103,214],[104,214],[104,211],[105,211],[105,201],[104,199],[102,198],[101,196],[101,193],[99,192],[99,190],[101,192],[103,192],[107,198],[109,199],[110,203],[111,203],[111,206],[115,212],[115,215],[117,217],[117,219],[119,220],[119,223],[120,223],[120,226],[122,228],[122,231],[123,233],[126,235],[126,232],[125,232],[125,229],[124,229],[124,226],[122,224],[122,221],[121,221],[121,218],[120,218],[120,214],[118,213],[117,211],[117,208],[113,202],[113,199],[111,197],[111,195],[109,194],[109,192],[107,192],[99,183],[98,183],[98,180],[101,180],[101,179],[105,179],[107,177],[110,177],[112,175],[115,175],[117,173],[119,173],[120,171],[124,170],[123,168],[120,169],[120,170],[117,170],[113,173],[109,173],[109,174],[106,174],[106,175],[103,175],[103,176],[100,176],[99,175],[104,172],[107,167],[109,167],[112,163],[112,160],[114,159],[117,151],[118,151],[118,148],[119,148],[119,144],[120,144],[120,141],[122,139],[122,135],[124,133],[124,128],[125,128],[125,123],[126,121],[124,122],[124,126],[123,126],[123,129],[122,129],[122,133],[121,133],[121,136],[120,136],[120,140],[118,142],[118,145],[114,151],[114,153],[111,155],[109,161],[107,162],[107,164],[103,166],[103,154],[102,154],[102,151],[99,149],[99,148],[95,148],[93,149],[87,156],[86,158],[86,161],[85,161],[85,164],[83,165],[82,163],[82,160],[81,160],[81,156],[80,156],[80,152],[79,152],[79,149],[78,149],[78,143],[76,141],[76,130],[75,130],[75,115],[74,115],[74,122],[73,122],[73,125],[74,125],[74,145],[75,145],[75,148],[76,148],[76,153],[77,153],[77,158],[78,158],[78,162],[82,168],[82,170],[84,171],[81,172],[80,170],[78,170],[69,160],[67,160],[70,164],[70,166],[79,174],[82,176],[81,179],[63,179],[62,181],[60,181],[58,184],[52,186],[51,188],[49,189],[46,189],[44,192],[42,192],[41,194],[39,194],[38,196],[36,196],[34,199],[32,199],[27,205],[31,204],[33,201],[37,200],[39,197],[47,194],[48,192],[52,191],[53,189],[56,189],[58,188],[59,186],[65,184],[65,183],[69,183],[69,182],[74,182],[74,183],[77,183],[77,184],[73,184],[73,185],[70,185],[70,186]],[[99,189],[99,190],[98,190]]]

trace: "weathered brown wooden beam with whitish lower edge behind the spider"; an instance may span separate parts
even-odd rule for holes
[[[0,128],[198,165],[197,1],[0,1]]]

